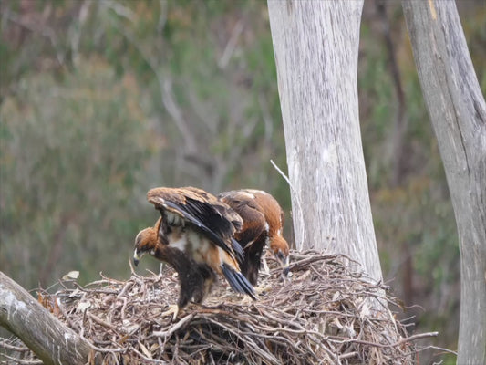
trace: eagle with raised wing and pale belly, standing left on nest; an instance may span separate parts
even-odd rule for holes
[[[252,284],[240,270],[243,248],[233,238],[243,221],[230,206],[194,187],[151,189],[147,200],[160,211],[160,218],[136,236],[133,261],[137,266],[141,256],[149,253],[178,273],[177,305],[171,305],[163,316],[173,314],[175,320],[191,299],[201,303],[215,273],[224,276],[234,291],[256,299]]]

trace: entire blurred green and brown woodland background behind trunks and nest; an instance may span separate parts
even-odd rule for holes
[[[457,2],[483,93],[486,5]],[[0,2],[0,269],[129,277],[155,186],[273,193],[292,241],[266,2]],[[456,349],[458,237],[398,1],[366,0],[359,108],[383,274],[411,330]],[[142,268],[158,270],[155,260]],[[430,341],[429,341],[430,342]],[[453,358],[445,357],[445,361]],[[421,363],[427,363],[422,360]]]

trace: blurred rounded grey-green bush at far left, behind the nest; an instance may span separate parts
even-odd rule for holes
[[[127,237],[140,225],[133,196],[143,196],[150,159],[142,93],[103,61],[81,65],[60,81],[25,75],[0,110],[1,266],[24,284],[69,268],[85,280],[127,272]]]

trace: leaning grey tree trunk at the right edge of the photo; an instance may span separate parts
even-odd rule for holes
[[[486,364],[486,103],[455,3],[402,5],[458,227],[458,364]]]

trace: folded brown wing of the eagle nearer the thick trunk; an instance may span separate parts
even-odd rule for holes
[[[218,199],[230,205],[233,210],[243,219],[243,228],[236,233],[235,238],[244,249],[253,245],[255,240],[262,235],[264,230],[268,231],[262,208],[254,200],[252,193],[243,190],[220,193]]]

